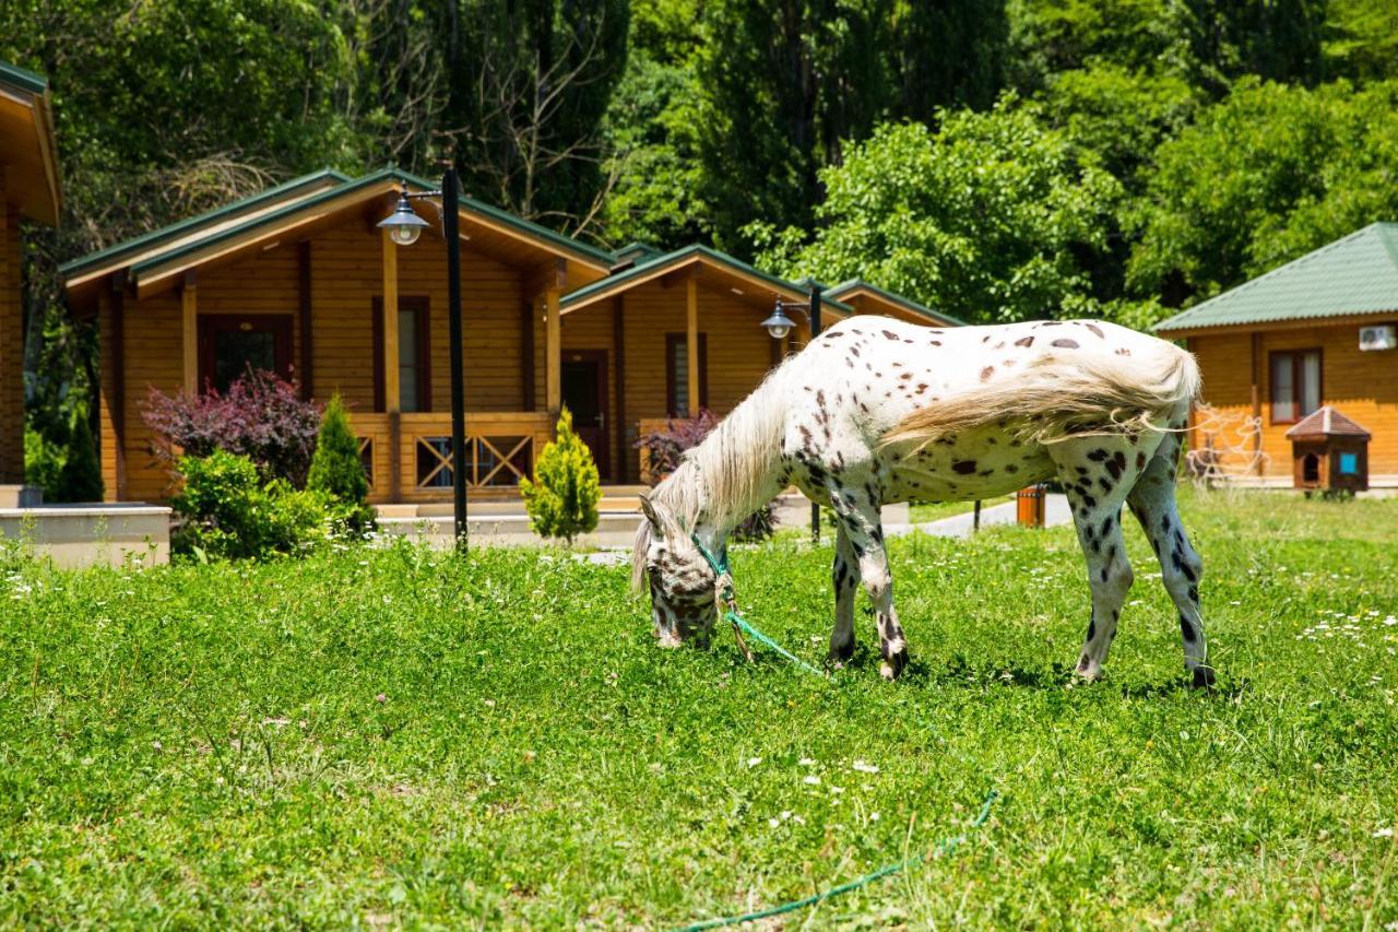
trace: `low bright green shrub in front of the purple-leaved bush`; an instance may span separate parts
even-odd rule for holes
[[[306,550],[326,537],[330,495],[298,491],[285,479],[263,481],[247,456],[214,451],[182,456],[185,487],[172,500],[183,523],[171,539],[178,553],[268,557]]]

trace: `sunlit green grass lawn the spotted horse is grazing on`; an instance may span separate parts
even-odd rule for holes
[[[1188,498],[1212,694],[1127,522],[1107,676],[1071,529],[893,542],[914,663],[651,645],[625,570],[407,546],[0,563],[0,925],[1398,922],[1398,501]],[[829,542],[735,549],[808,659]],[[858,761],[858,763],[857,763]],[[1388,928],[1394,928],[1388,925]]]

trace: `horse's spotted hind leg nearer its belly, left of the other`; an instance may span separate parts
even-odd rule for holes
[[[1095,680],[1117,637],[1121,606],[1131,591],[1131,561],[1121,539],[1121,505],[1139,472],[1137,448],[1124,437],[1088,437],[1051,448],[1068,493],[1078,543],[1088,561],[1092,616],[1078,655],[1078,673]]]

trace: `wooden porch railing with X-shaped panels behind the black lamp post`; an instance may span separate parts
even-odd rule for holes
[[[452,416],[352,414],[375,502],[452,498]],[[547,413],[491,411],[466,416],[466,484],[475,494],[512,495],[554,437]]]

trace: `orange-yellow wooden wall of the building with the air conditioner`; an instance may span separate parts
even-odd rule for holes
[[[1265,476],[1269,480],[1289,483],[1292,445],[1286,431],[1292,424],[1272,423],[1268,357],[1275,351],[1318,348],[1321,403],[1334,404],[1373,434],[1369,444],[1370,480],[1387,476],[1388,483],[1398,481],[1398,351],[1360,351],[1357,325],[1271,330],[1261,334],[1260,344],[1258,397],[1262,451],[1269,455]],[[1234,423],[1253,411],[1251,347],[1251,333],[1190,339],[1190,348],[1204,374],[1205,402]],[[1202,444],[1202,439],[1198,442]]]

